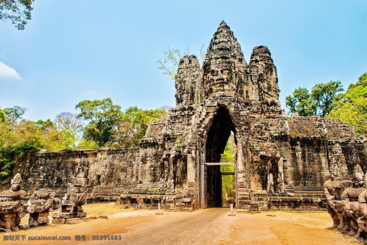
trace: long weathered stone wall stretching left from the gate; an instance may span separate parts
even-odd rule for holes
[[[39,152],[16,159],[11,176],[21,174],[24,190],[66,188],[80,158],[88,159],[88,177],[96,186],[137,184],[139,148]]]

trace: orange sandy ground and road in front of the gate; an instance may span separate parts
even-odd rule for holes
[[[212,208],[192,213],[120,209],[115,203],[83,206],[87,217],[107,215],[79,224],[44,226],[1,233],[1,244],[358,244],[328,230],[328,213],[262,212],[228,216],[229,209]],[[269,216],[271,215],[271,216]],[[51,217],[51,214],[50,214]],[[22,224],[28,217],[22,219]],[[25,241],[3,241],[4,235],[26,236]],[[28,236],[70,236],[71,241],[29,241]],[[85,235],[86,241],[76,241]],[[93,240],[93,235],[116,235],[120,240]],[[119,237],[120,236],[120,237]],[[341,241],[338,241],[340,239]],[[345,241],[348,239],[348,241]],[[333,241],[334,240],[334,241]]]

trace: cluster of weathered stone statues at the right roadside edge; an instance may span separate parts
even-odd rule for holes
[[[330,173],[324,176],[324,194],[327,212],[333,219],[333,230],[354,237],[367,233],[367,173],[359,165],[348,180],[348,170],[340,146],[334,145],[330,156]],[[364,233],[363,235],[361,233]]]

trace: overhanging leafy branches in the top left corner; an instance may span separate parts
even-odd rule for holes
[[[34,0],[0,0],[0,20],[10,20],[18,30],[24,30],[27,21],[32,18]]]

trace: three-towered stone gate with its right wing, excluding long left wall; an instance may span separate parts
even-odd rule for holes
[[[184,194],[194,209],[218,206],[219,166],[205,167],[203,184],[203,165],[219,162],[231,131],[237,145],[237,203],[243,209],[269,206],[269,198],[255,198],[266,203],[254,204],[251,190],[287,198],[286,187],[320,187],[335,141],[353,152],[350,165],[366,159],[363,139],[352,127],[338,120],[285,116],[270,51],[254,47],[247,63],[224,21],[210,41],[202,69],[195,55],[180,61],[175,87],[176,107],[150,124],[140,142],[139,184],[160,181],[160,191]],[[206,194],[217,200],[208,203]]]

